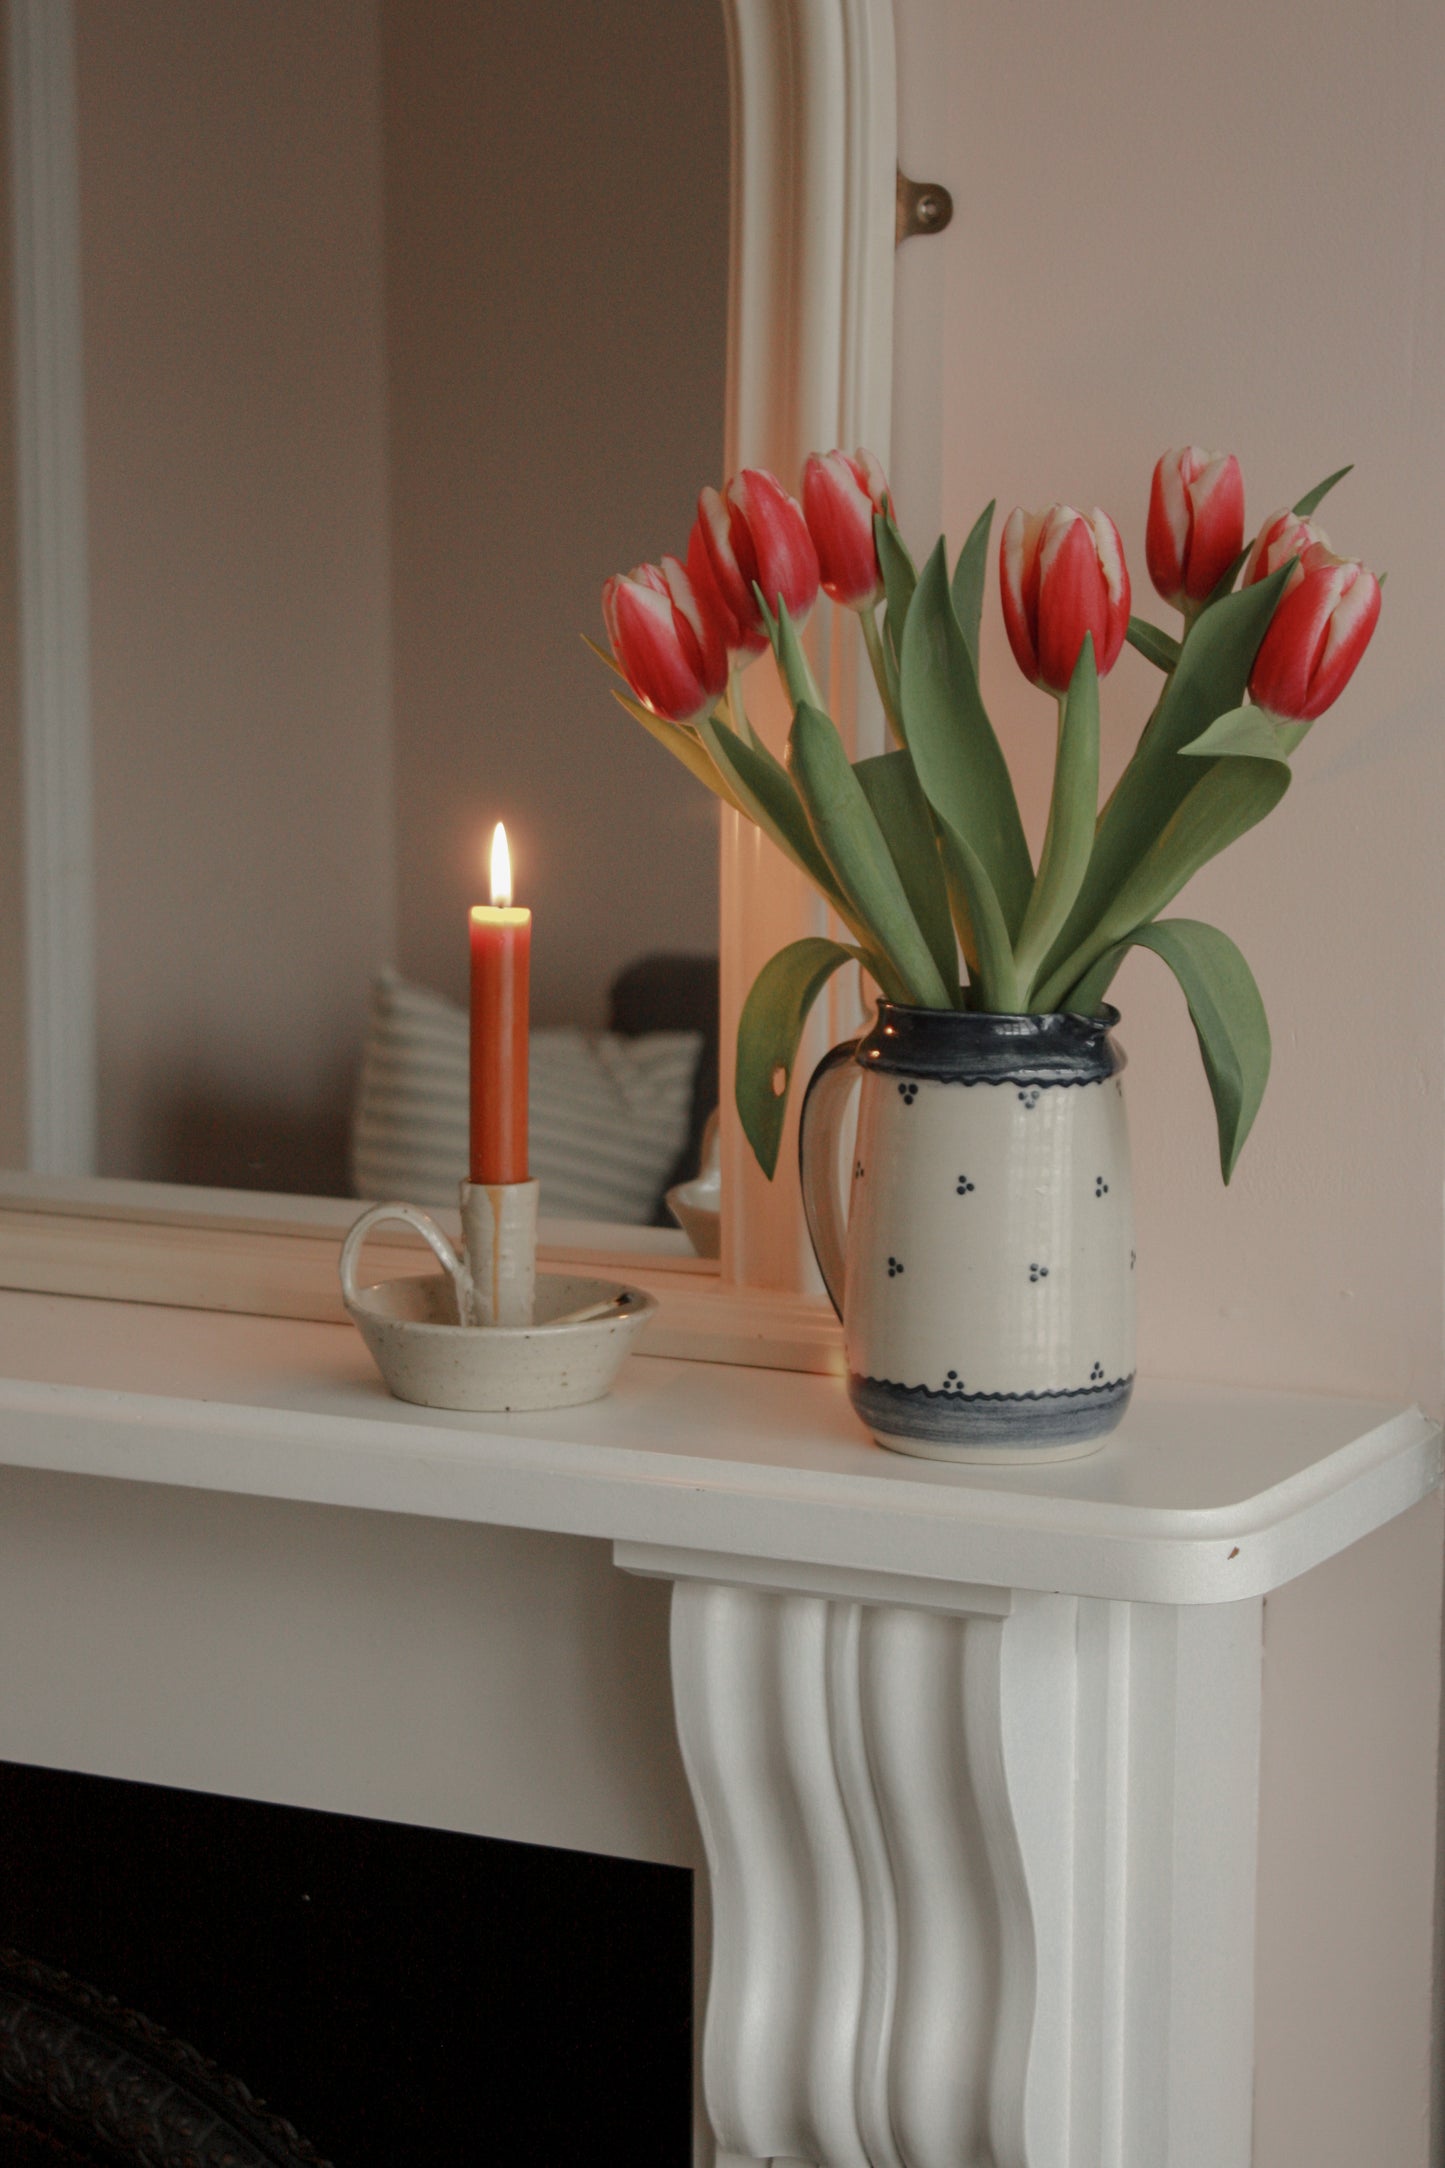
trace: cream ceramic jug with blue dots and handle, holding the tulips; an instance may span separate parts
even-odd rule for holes
[[[929,1459],[1096,1450],[1133,1390],[1124,1056],[1101,1017],[877,1004],[804,1101],[812,1247],[849,1396],[882,1446]],[[836,1166],[860,1086],[847,1184]]]

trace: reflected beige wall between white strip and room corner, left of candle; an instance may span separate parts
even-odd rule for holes
[[[102,1171],[342,1173],[392,943],[375,4],[80,0]]]

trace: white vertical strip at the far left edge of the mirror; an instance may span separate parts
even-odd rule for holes
[[[71,0],[9,0],[30,1166],[95,1169],[95,869]]]

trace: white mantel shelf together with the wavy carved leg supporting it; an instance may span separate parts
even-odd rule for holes
[[[0,1294],[0,1468],[669,1580],[724,2164],[1246,2168],[1263,1598],[1426,1498],[1441,1433],[1146,1383],[1092,1459],[953,1470],[825,1377],[639,1357],[468,1418],[342,1327]]]

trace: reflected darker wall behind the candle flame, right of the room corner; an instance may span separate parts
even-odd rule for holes
[[[396,913],[461,995],[505,820],[539,1021],[717,950],[717,813],[581,633],[719,481],[728,89],[708,0],[383,0]]]

